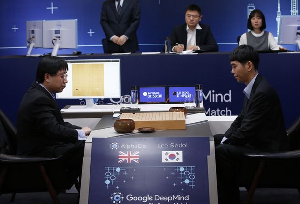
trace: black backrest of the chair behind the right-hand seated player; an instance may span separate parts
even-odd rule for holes
[[[300,116],[287,129],[289,150],[300,149]]]

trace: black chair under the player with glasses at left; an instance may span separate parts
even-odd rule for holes
[[[55,204],[59,204],[57,193],[70,189],[77,179],[72,179],[61,163],[61,157],[44,158],[17,156],[16,129],[0,109],[0,195],[49,191]]]

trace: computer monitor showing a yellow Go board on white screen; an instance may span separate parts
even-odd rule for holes
[[[57,99],[86,99],[86,107],[95,98],[120,98],[120,59],[66,60],[68,83]]]

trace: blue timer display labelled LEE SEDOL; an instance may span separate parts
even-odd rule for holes
[[[169,102],[184,102],[191,95],[195,96],[195,87],[169,87]]]

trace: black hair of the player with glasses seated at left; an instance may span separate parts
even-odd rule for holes
[[[36,70],[36,81],[38,83],[43,83],[46,73],[55,75],[60,70],[68,71],[67,62],[64,59],[56,56],[47,56],[39,62]]]

